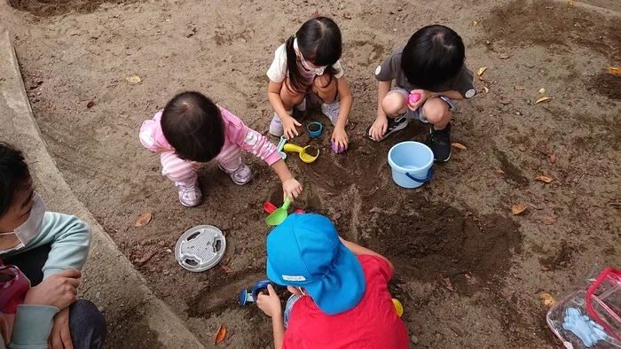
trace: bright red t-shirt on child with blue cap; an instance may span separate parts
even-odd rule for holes
[[[328,315],[303,297],[295,302],[283,349],[401,349],[407,348],[407,330],[399,319],[388,283],[392,271],[386,260],[360,255],[358,260],[365,273],[365,295],[353,309]]]

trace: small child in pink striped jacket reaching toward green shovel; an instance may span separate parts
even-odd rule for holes
[[[199,92],[178,94],[152,120],[145,120],[140,128],[140,142],[146,149],[161,154],[161,174],[175,182],[183,206],[200,204],[200,162],[216,159],[218,167],[233,182],[250,182],[252,172],[241,162],[241,149],[274,169],[287,198],[297,198],[302,192],[302,185],[289,172],[274,144]]]

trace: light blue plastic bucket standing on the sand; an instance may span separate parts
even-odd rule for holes
[[[434,153],[420,142],[395,144],[389,151],[392,180],[404,188],[418,188],[434,174]]]

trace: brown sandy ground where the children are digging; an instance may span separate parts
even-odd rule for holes
[[[224,346],[271,345],[268,320],[237,306],[236,295],[264,277],[262,206],[278,204],[279,182],[258,159],[245,157],[255,179],[243,187],[208,164],[200,170],[203,204],[184,208],[138,128],[176,92],[198,89],[264,132],[273,51],[317,9],[342,28],[352,145],[337,156],[326,134],[295,140],[322,151],[312,165],[287,159],[305,185],[295,206],[325,213],[344,237],[395,262],[390,290],[405,306],[412,347],[555,348],[538,295],[561,297],[593,263],[621,261],[621,77],[607,73],[621,66],[621,20],[614,0],[573,3],[11,0],[43,17],[0,4],[0,20],[12,30],[35,117],[67,182],[130,260],[155,252],[136,268],[205,344],[224,323]],[[436,165],[421,190],[402,190],[386,154],[394,143],[425,140],[428,128],[411,125],[382,143],[363,137],[375,115],[373,70],[431,23],[457,30],[468,66],[488,69],[453,121],[453,142],[468,149]],[[142,82],[125,81],[130,74]],[[535,104],[544,95],[553,98]],[[308,120],[326,125],[318,112]],[[534,181],[538,175],[554,181]],[[528,208],[514,216],[515,204]],[[145,212],[153,221],[134,228]],[[177,265],[168,250],[198,224],[224,230],[232,273]],[[139,335],[124,337],[131,319],[106,318],[110,347],[148,346]]]

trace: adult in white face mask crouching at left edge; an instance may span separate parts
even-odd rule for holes
[[[74,301],[89,246],[90,227],[75,216],[46,212],[22,153],[0,143],[0,259],[19,268],[32,286],[17,306],[12,337],[4,338],[4,345],[101,347],[103,316],[89,301]]]

